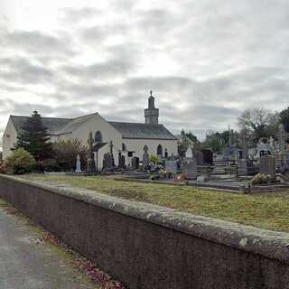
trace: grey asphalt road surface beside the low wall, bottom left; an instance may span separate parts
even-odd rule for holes
[[[45,244],[23,218],[0,208],[0,289],[96,289],[65,253]]]

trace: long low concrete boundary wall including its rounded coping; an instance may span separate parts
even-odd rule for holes
[[[5,175],[0,197],[128,288],[289,288],[289,234]]]

